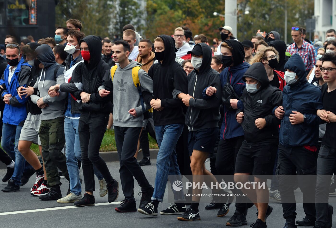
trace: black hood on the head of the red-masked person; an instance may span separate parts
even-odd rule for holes
[[[101,59],[101,50],[102,50],[102,45],[101,45],[101,40],[97,36],[87,36],[84,37],[80,42],[79,42],[79,47],[81,46],[81,43],[85,42],[87,46],[89,47],[90,51],[90,63],[84,60],[85,65],[89,68],[94,68],[97,66],[98,62]]]

